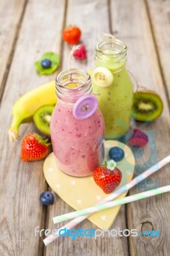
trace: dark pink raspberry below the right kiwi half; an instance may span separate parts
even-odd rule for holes
[[[144,147],[148,143],[148,135],[146,135],[139,129],[134,129],[134,132],[130,139],[128,140],[128,143],[131,146]]]

